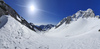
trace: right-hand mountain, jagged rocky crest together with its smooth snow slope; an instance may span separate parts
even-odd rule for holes
[[[61,20],[56,27],[52,28],[46,35],[57,37],[73,37],[83,35],[89,31],[100,29],[100,16],[95,16],[92,9],[78,11],[72,16]],[[59,31],[59,32],[58,32]]]

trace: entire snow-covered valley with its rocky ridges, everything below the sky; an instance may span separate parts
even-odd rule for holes
[[[0,49],[100,49],[100,16],[92,9],[80,10],[52,27],[28,23],[0,0]]]

